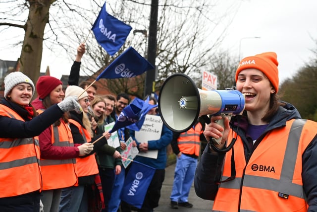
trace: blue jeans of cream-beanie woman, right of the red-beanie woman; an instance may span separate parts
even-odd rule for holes
[[[61,190],[59,212],[87,212],[85,186],[72,186]]]

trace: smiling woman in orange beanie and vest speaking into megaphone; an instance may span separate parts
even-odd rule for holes
[[[317,211],[317,123],[279,100],[277,66],[274,52],[241,60],[235,80],[245,111],[224,127],[211,116],[205,128],[194,186],[213,211]]]

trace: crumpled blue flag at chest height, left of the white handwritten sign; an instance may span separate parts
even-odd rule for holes
[[[142,110],[142,99],[134,98],[133,101],[123,108],[117,120],[115,120],[113,128],[109,133],[113,133],[120,128],[132,125],[140,120]]]

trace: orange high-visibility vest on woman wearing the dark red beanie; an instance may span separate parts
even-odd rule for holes
[[[37,110],[39,114],[43,110]],[[70,128],[61,119],[59,126],[51,125],[51,141],[53,146],[74,146]],[[43,179],[43,190],[67,188],[78,184],[75,171],[75,158],[40,160]]]

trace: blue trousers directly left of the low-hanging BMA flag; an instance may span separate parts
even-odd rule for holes
[[[115,170],[114,170],[115,171]],[[108,212],[117,212],[121,203],[121,191],[124,184],[125,178],[125,169],[124,166],[121,166],[121,173],[115,175],[114,184],[112,187],[111,198],[109,201]]]

